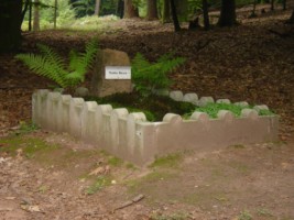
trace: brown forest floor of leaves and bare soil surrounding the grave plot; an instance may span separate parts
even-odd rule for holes
[[[171,24],[121,20],[99,32],[23,33],[21,53],[44,43],[66,55],[95,35],[101,48],[130,57],[140,52],[155,61],[173,51],[187,58],[171,76],[173,89],[265,103],[281,117],[281,142],[183,152],[137,168],[65,134],[22,134],[30,128],[15,129],[31,119],[32,92],[52,82],[31,74],[15,54],[0,55],[0,219],[294,219],[294,29],[284,24],[288,16],[290,11],[268,12],[208,32],[174,33]]]

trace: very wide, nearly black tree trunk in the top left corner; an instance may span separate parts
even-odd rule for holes
[[[0,1],[0,52],[17,50],[21,44],[22,0]]]

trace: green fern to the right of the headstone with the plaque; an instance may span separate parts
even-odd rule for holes
[[[142,54],[138,53],[132,59],[132,80],[134,88],[143,97],[148,97],[154,89],[165,89],[172,84],[167,74],[179,65],[185,58],[175,57],[173,54],[161,56],[156,63],[150,63]]]

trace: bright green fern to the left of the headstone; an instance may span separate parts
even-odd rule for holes
[[[73,88],[85,80],[85,75],[92,64],[97,50],[97,40],[86,44],[85,53],[69,52],[69,65],[51,47],[37,45],[41,54],[18,54],[15,57],[22,61],[36,75],[47,77],[62,88]]]

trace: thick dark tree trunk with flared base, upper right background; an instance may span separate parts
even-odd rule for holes
[[[221,0],[221,11],[218,20],[218,25],[232,26],[235,24],[237,24],[235,0]]]

